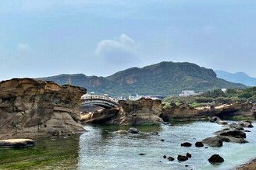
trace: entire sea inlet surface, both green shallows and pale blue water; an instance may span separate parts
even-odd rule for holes
[[[256,127],[256,123],[253,123]],[[85,125],[80,137],[37,139],[25,149],[0,149],[0,169],[233,169],[256,158],[256,128],[247,133],[247,144],[223,143],[222,147],[195,147],[194,143],[214,136],[221,125],[208,122],[137,127],[140,134],[116,134],[123,126]],[[150,134],[158,132],[158,135]],[[164,139],[164,141],[161,141]],[[180,147],[190,142],[192,147]],[[192,154],[179,162],[178,154]],[[139,155],[144,154],[144,155]],[[220,154],[225,161],[212,165],[208,158]],[[163,158],[172,156],[175,161]],[[187,167],[186,167],[187,165]]]

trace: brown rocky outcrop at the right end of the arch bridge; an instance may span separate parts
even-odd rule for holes
[[[119,109],[102,109],[85,114],[85,123],[106,123],[122,125],[151,125],[162,123],[161,100],[141,98],[136,101],[121,100]],[[117,112],[118,111],[118,112]]]

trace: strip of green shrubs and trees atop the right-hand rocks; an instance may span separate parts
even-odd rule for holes
[[[212,91],[204,92],[201,95],[177,97],[169,96],[163,101],[164,107],[184,104],[191,107],[198,106],[216,106],[221,104],[233,103],[233,102],[251,102],[256,104],[256,87],[240,89],[227,89],[226,92],[222,92],[221,89],[215,89]]]

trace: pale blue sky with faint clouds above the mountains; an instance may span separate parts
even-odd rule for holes
[[[0,81],[161,61],[256,77],[253,0],[0,0]]]

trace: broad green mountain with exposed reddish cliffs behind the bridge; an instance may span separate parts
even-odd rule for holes
[[[39,78],[87,88],[87,92],[108,93],[112,96],[176,95],[182,90],[203,92],[215,88],[246,88],[245,85],[217,78],[212,69],[192,63],[161,62],[144,68],[129,68],[108,77],[57,75]]]

